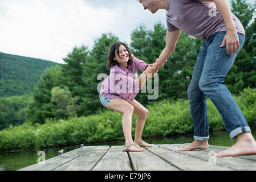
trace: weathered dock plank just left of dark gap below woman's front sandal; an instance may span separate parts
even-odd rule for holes
[[[123,150],[123,146],[111,146],[92,171],[132,171],[129,156]]]

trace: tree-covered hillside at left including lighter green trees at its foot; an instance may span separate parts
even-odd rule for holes
[[[0,52],[0,130],[26,121],[32,93],[46,68],[58,63]]]

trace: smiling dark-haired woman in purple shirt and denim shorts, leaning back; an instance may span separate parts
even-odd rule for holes
[[[114,43],[108,55],[110,75],[101,85],[100,101],[108,109],[123,114],[122,125],[125,138],[124,151],[144,151],[143,147],[152,147],[141,139],[148,110],[135,100],[136,94],[147,80],[147,73],[157,73],[153,64],[148,65],[132,55],[130,49],[121,42]],[[137,78],[137,69],[143,73]],[[151,76],[150,74],[150,76]],[[132,139],[132,114],[138,116],[136,121],[135,140]]]

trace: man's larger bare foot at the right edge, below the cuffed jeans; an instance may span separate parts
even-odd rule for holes
[[[217,157],[237,155],[256,155],[256,142],[251,133],[239,134],[237,136],[237,143],[216,154]]]

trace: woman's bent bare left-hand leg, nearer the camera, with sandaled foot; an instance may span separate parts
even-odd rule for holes
[[[129,104],[127,101],[123,100],[122,98],[114,98],[112,99],[107,107],[111,110],[114,110],[118,113],[123,114],[122,118],[122,125],[123,125],[123,132],[124,132],[124,138],[125,138],[125,146],[133,143],[132,140],[132,114],[134,107]],[[132,145],[129,147],[129,150],[131,151],[144,151],[143,148],[136,147],[135,145]]]

